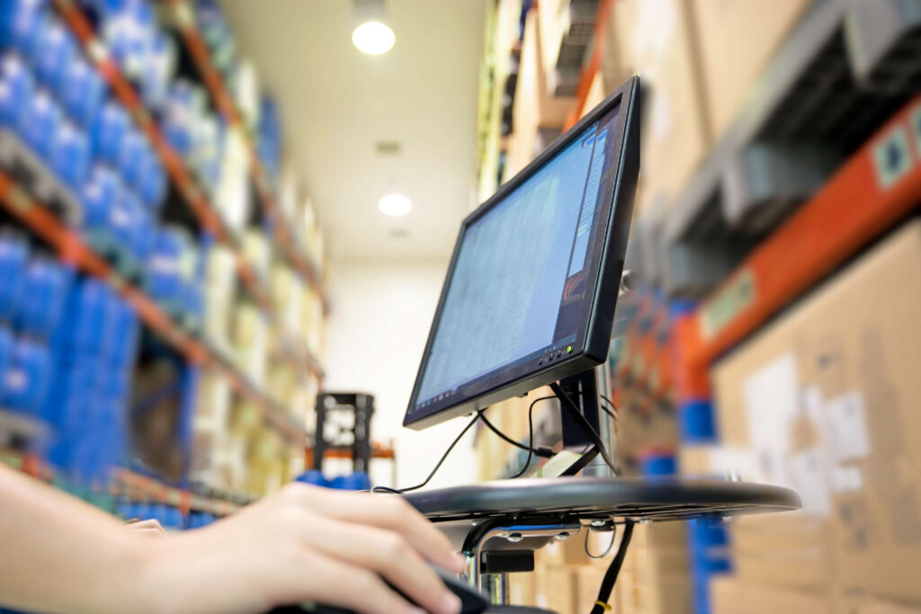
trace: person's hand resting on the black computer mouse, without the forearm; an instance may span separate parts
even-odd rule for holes
[[[139,594],[157,611],[251,614],[306,601],[361,614],[419,611],[384,580],[425,611],[461,610],[426,564],[461,573],[460,555],[398,496],[293,483],[214,525],[156,544],[139,575]]]

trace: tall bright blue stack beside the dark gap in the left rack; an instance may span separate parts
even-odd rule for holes
[[[79,483],[107,483],[127,460],[127,406],[140,337],[134,310],[95,279],[74,284],[52,340],[55,368],[46,416],[51,462]]]

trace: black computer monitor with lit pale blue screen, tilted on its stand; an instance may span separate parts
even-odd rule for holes
[[[606,359],[639,174],[638,98],[632,77],[461,223],[404,426]]]

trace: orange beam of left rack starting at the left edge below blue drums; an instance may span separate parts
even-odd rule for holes
[[[140,319],[151,330],[156,331],[190,363],[219,369],[239,395],[256,404],[267,423],[284,434],[292,443],[303,443],[303,426],[295,423],[284,409],[271,400],[249,377],[241,373],[227,358],[222,357],[211,344],[183,330],[153,299],[129,283],[120,272],[90,249],[76,232],[64,226],[3,172],[0,172],[0,204],[56,249],[64,262],[110,284],[134,307]]]

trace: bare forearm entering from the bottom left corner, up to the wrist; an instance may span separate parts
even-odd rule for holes
[[[115,518],[0,466],[0,603],[42,612],[134,609],[145,551],[145,540]]]

